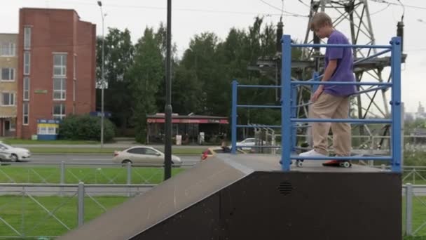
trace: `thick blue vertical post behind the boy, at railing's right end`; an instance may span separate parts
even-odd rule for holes
[[[392,171],[401,172],[401,37],[393,37],[391,55],[392,74]]]

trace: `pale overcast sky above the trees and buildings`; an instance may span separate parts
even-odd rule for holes
[[[282,0],[174,0],[172,12],[172,41],[177,44],[179,55],[188,47],[194,34],[214,32],[225,39],[231,27],[247,28],[256,15],[264,16],[266,22],[276,24],[280,19]],[[308,4],[309,0],[301,0]],[[284,15],[284,34],[291,34],[293,39],[304,39],[309,8],[299,0],[284,0],[284,10],[297,16]],[[401,6],[369,1],[371,22],[376,36],[376,44],[388,44],[396,35],[397,22],[401,18]],[[386,0],[397,4],[397,0]],[[102,33],[102,20],[99,6],[95,0],[2,0],[0,8],[0,32],[18,32],[19,8],[72,8],[81,20],[97,25],[97,34]],[[6,4],[7,2],[7,4]],[[404,23],[404,49],[408,53],[402,73],[402,98],[407,112],[416,112],[418,102],[426,105],[426,1],[401,0],[406,5]],[[166,22],[167,1],[159,0],[103,0],[105,27],[128,28],[132,41],[136,41],[146,26],[158,27]],[[275,6],[276,8],[273,8]],[[414,8],[416,6],[418,8]],[[331,13],[337,16],[338,13]],[[424,22],[421,22],[420,20]],[[350,36],[348,22],[337,26]],[[387,76],[384,76],[387,79]]]

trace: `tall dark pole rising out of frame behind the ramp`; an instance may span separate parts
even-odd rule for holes
[[[172,0],[167,0],[167,51],[165,56],[165,146],[164,179],[172,177]]]

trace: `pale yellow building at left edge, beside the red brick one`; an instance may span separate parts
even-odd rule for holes
[[[18,34],[0,34],[0,136],[16,135]]]

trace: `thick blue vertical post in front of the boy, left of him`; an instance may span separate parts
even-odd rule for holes
[[[282,171],[289,171],[291,161],[291,36],[283,35],[281,41],[281,166]]]

